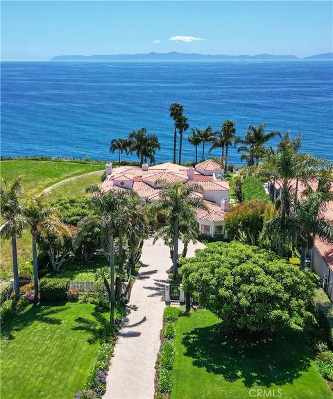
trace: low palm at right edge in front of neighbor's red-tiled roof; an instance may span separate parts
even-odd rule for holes
[[[333,201],[333,192],[307,189],[306,197],[296,201],[293,214],[293,227],[302,248],[300,266],[305,269],[307,250],[314,246],[315,237],[327,244],[333,244],[333,224],[325,219],[325,203]]]

